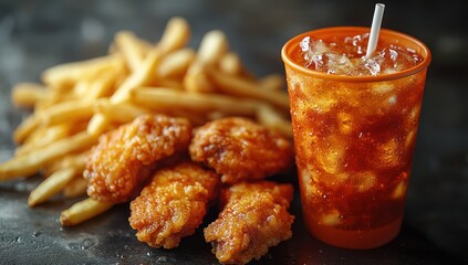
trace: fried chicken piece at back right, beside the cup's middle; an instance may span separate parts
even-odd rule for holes
[[[217,119],[197,128],[189,147],[194,161],[206,163],[233,184],[260,180],[289,169],[291,142],[247,118]]]

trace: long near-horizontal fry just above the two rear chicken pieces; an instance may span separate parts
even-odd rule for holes
[[[187,109],[198,113],[219,110],[229,115],[254,116],[258,100],[216,94],[184,93],[170,88],[141,87],[132,92],[132,100],[147,107]]]

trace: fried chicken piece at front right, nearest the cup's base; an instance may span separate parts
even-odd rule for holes
[[[222,264],[260,259],[270,246],[292,236],[294,216],[288,212],[291,184],[243,182],[222,191],[226,203],[218,219],[204,230],[212,253]]]

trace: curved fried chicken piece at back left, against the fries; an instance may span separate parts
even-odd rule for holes
[[[191,125],[186,118],[144,115],[102,135],[87,157],[83,172],[87,195],[119,203],[138,194],[155,163],[186,152]]]

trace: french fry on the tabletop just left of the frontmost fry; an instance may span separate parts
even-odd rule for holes
[[[66,183],[69,183],[73,177],[75,177],[75,174],[76,169],[74,168],[64,168],[55,171],[31,191],[31,194],[28,199],[28,205],[31,208],[35,206],[59,193],[66,186]]]

